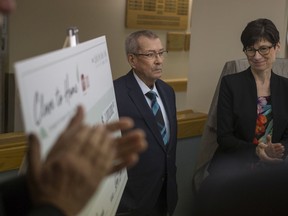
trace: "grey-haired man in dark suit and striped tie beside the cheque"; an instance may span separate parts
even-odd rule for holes
[[[172,215],[177,204],[177,120],[174,90],[160,80],[164,55],[159,37],[148,30],[130,34],[125,42],[128,74],[114,81],[119,116],[129,116],[146,132],[148,149],[128,170],[128,182],[117,215]],[[156,94],[164,125],[154,116]],[[148,93],[148,94],[147,94]],[[151,110],[152,108],[152,110]],[[165,126],[159,129],[159,125]],[[161,130],[161,132],[160,132]]]

